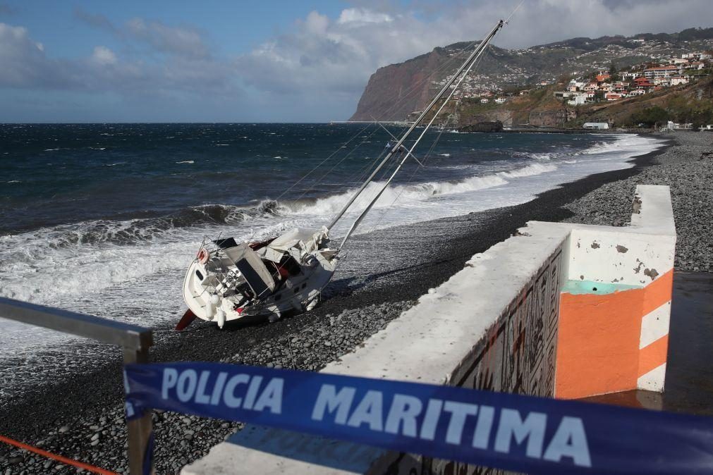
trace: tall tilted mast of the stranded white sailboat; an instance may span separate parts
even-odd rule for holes
[[[456,71],[456,73],[453,75],[453,77],[452,77],[450,80],[448,80],[448,81],[446,82],[446,85],[444,85],[443,88],[438,92],[438,94],[436,94],[436,97],[434,97],[433,100],[431,100],[431,103],[429,103],[429,105],[426,106],[426,108],[424,108],[423,112],[421,112],[421,115],[419,115],[419,118],[417,118],[417,119],[414,121],[414,123],[411,124],[411,127],[409,127],[409,130],[406,130],[406,132],[404,133],[404,135],[402,135],[401,138],[399,139],[399,141],[396,142],[396,145],[394,145],[394,147],[389,151],[389,153],[386,155],[386,157],[384,157],[384,160],[381,160],[381,163],[379,163],[379,166],[376,167],[376,169],[374,169],[374,172],[371,172],[371,175],[369,175],[369,178],[367,178],[366,181],[365,181],[363,184],[361,184],[361,187],[359,187],[359,189],[356,190],[356,193],[354,193],[354,195],[352,196],[352,198],[349,199],[349,202],[347,202],[347,204],[344,205],[344,207],[343,207],[342,210],[337,214],[337,216],[335,216],[334,219],[332,219],[332,222],[329,223],[329,226],[327,226],[327,229],[332,229],[332,227],[334,226],[334,224],[337,224],[337,221],[339,221],[339,219],[342,218],[342,216],[344,215],[344,213],[347,212],[347,209],[349,209],[349,207],[352,206],[352,203],[354,203],[354,200],[355,200],[357,197],[359,197],[359,194],[361,194],[361,192],[364,191],[364,189],[366,188],[366,186],[374,179],[374,177],[375,177],[376,174],[379,172],[379,170],[380,170],[382,167],[384,167],[384,165],[386,165],[386,162],[389,162],[389,159],[391,159],[391,157],[393,157],[394,154],[395,154],[396,152],[398,152],[398,151],[401,149],[401,147],[402,147],[402,145],[404,144],[404,142],[406,141],[406,139],[409,137],[409,135],[411,135],[411,132],[413,132],[414,129],[416,129],[416,126],[418,126],[419,123],[421,123],[421,121],[424,120],[424,118],[426,118],[426,115],[429,113],[429,111],[431,110],[431,108],[433,108],[434,105],[436,105],[436,103],[438,103],[438,100],[440,100],[440,99],[443,97],[443,95],[446,94],[446,92],[448,91],[448,88],[450,88],[451,85],[452,85],[454,82],[456,82],[456,80],[457,80],[458,77],[461,75],[461,73],[463,73],[463,71],[466,71],[466,69],[468,69],[468,71],[470,70],[470,68],[473,66],[473,63],[475,63],[476,59],[481,56],[481,54],[483,53],[483,51],[485,51],[485,48],[486,48],[486,47],[488,46],[488,44],[491,42],[491,40],[493,39],[493,37],[496,36],[496,33],[498,33],[498,31],[500,31],[500,29],[503,28],[503,24],[504,24],[504,21],[503,21],[503,20],[498,21],[498,24],[495,26],[495,28],[493,28],[493,30],[488,34],[488,36],[486,36],[486,38],[483,39],[483,41],[481,41],[481,44],[478,45],[478,48],[476,48],[476,49],[473,51],[473,53],[471,53],[471,56],[468,56],[468,59],[466,59],[466,61],[463,63],[463,65],[461,65],[461,67],[458,68],[458,71]],[[461,78],[461,81],[462,81],[462,80],[463,80],[463,79]],[[460,83],[460,81],[459,81],[459,83]],[[451,97],[451,95],[453,95],[453,92],[455,92],[455,88],[453,88],[453,91],[451,91],[451,93],[450,93],[450,95],[448,95],[448,97]],[[446,101],[443,102],[443,105],[445,105],[447,101],[448,101],[448,99],[446,99]],[[441,109],[443,108],[443,105],[441,105]],[[441,109],[439,109],[438,112],[440,112]],[[436,113],[436,115],[438,115],[438,113]],[[424,129],[423,132],[421,132],[421,135],[419,136],[419,139],[416,140],[416,143],[414,143],[414,145],[411,147],[411,150],[409,150],[409,152],[406,153],[406,156],[404,157],[404,160],[402,160],[402,161],[401,161],[401,164],[399,164],[399,167],[396,168],[396,172],[399,171],[399,169],[401,168],[401,165],[403,165],[403,164],[404,164],[404,161],[406,161],[406,158],[408,158],[409,155],[411,155],[411,152],[413,152],[413,150],[414,150],[414,148],[416,147],[416,145],[418,145],[419,140],[421,140],[421,137],[424,137],[424,134],[426,133],[426,131],[429,130],[429,127],[430,127],[431,124],[434,122],[434,120],[435,120],[435,118],[436,118],[436,115],[434,115],[434,118],[432,118],[431,121],[429,122],[429,124],[426,125],[426,128]],[[396,172],[394,172],[394,174],[396,174]],[[366,207],[366,209],[364,209],[364,211],[361,212],[361,214],[359,215],[359,217],[354,221],[354,223],[352,224],[352,227],[349,228],[349,232],[347,232],[347,236],[344,237],[344,240],[342,241],[342,245],[339,246],[340,249],[342,248],[342,246],[344,246],[344,243],[345,243],[345,242],[347,241],[347,239],[349,238],[349,235],[352,234],[352,231],[354,231],[354,229],[356,229],[356,226],[359,226],[359,223],[361,222],[361,219],[363,219],[364,216],[366,216],[366,213],[369,212],[369,210],[370,210],[371,207],[374,205],[374,203],[376,202],[376,200],[379,199],[379,197],[381,196],[381,193],[384,192],[384,189],[386,189],[386,187],[389,185],[389,183],[391,182],[391,179],[394,178],[394,174],[391,174],[391,177],[389,178],[389,181],[386,182],[386,184],[384,185],[384,187],[382,187],[381,190],[379,191],[379,193],[376,194],[376,197],[374,197],[374,199],[371,200],[371,202],[370,202],[369,205]]]

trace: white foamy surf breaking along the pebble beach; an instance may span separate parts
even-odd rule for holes
[[[480,174],[457,182],[399,184],[386,189],[359,232],[527,202],[558,184],[630,167],[627,160],[632,155],[655,150],[660,143],[623,135],[580,153],[576,160],[560,157],[543,163],[520,157],[511,169],[473,165],[473,172]],[[380,183],[369,184],[332,234],[343,235],[380,188]],[[0,296],[143,325],[173,321],[183,308],[180,282],[185,268],[205,236],[262,239],[293,226],[321,226],[352,193],[286,202],[277,209],[269,209],[267,203],[255,204],[252,211],[223,206],[227,211],[220,221],[199,219],[185,226],[147,220],[87,221],[0,236]],[[210,214],[210,207],[195,211]],[[33,338],[26,338],[27,327],[14,323],[4,324],[3,330],[0,358],[31,353],[41,342],[65,338],[43,330],[31,330]]]

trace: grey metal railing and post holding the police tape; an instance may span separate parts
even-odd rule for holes
[[[148,348],[153,345],[153,331],[148,328],[11,298],[0,297],[0,318],[119,345],[125,364],[148,362]],[[151,435],[150,412],[128,421],[127,431],[129,473],[140,475]]]

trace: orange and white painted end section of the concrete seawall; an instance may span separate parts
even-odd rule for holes
[[[676,232],[668,187],[637,187],[630,226],[565,243],[555,397],[662,391]]]

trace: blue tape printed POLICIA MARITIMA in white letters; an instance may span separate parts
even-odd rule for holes
[[[205,362],[126,365],[146,409],[250,422],[531,474],[713,474],[713,418]]]

